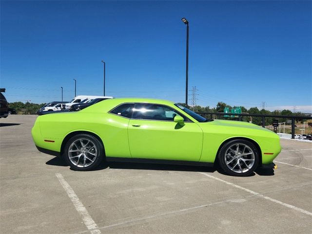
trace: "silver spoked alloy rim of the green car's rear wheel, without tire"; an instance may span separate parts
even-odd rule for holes
[[[75,140],[68,150],[69,160],[77,167],[88,167],[96,160],[97,147],[89,139],[79,138]]]

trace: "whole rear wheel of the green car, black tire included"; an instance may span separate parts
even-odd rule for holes
[[[66,142],[62,156],[72,169],[90,171],[97,168],[104,159],[104,147],[97,137],[77,134]]]

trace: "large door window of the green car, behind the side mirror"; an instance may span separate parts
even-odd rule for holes
[[[135,108],[133,109],[132,118],[174,121],[176,115],[179,115],[179,113],[168,106],[139,103],[136,104]],[[188,119],[184,117],[184,121],[188,121]]]

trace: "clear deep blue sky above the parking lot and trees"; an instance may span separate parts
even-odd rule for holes
[[[2,1],[0,86],[9,102],[79,95],[312,112],[311,1]],[[191,93],[191,92],[189,92]],[[190,97],[191,98],[191,97]],[[189,100],[190,103],[190,100]]]

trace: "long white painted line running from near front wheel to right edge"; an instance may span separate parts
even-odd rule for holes
[[[239,186],[239,185],[236,185],[236,184],[234,184],[234,183],[225,181],[225,180],[223,180],[223,179],[219,179],[219,178],[217,178],[217,177],[215,177],[215,176],[211,176],[211,175],[206,174],[206,173],[204,173],[204,172],[198,172],[198,173],[200,173],[200,174],[202,174],[202,175],[204,175],[204,176],[207,176],[207,177],[209,177],[209,178],[215,179],[215,180],[217,180],[217,181],[220,181],[220,182],[226,183],[226,184],[228,184],[228,185],[231,185],[231,186],[234,187],[234,188],[243,190],[243,191],[245,191],[245,192],[247,192],[247,193],[250,193],[250,194],[252,194],[252,195],[256,195],[256,196],[262,197],[262,198],[264,198],[264,199],[267,199],[267,200],[269,200],[269,201],[275,202],[275,203],[277,203],[277,204],[280,204],[280,205],[285,206],[285,207],[287,207],[287,208],[290,208],[290,209],[292,209],[292,210],[299,211],[299,212],[301,212],[301,213],[303,213],[303,214],[311,215],[311,216],[312,216],[312,212],[309,212],[309,211],[306,211],[306,210],[304,210],[304,209],[298,208],[298,207],[296,207],[296,206],[293,206],[293,205],[284,203],[284,202],[282,202],[282,201],[273,199],[273,198],[271,198],[271,197],[268,197],[268,196],[259,194],[259,193],[257,193],[257,192],[252,191],[252,190],[245,189],[245,188],[243,188],[243,187],[241,187],[241,186]]]

